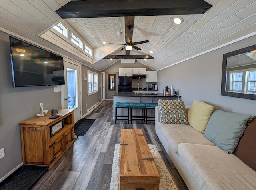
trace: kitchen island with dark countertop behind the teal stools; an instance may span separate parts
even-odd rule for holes
[[[133,102],[133,103],[158,103],[159,99],[163,100],[178,100],[181,96],[175,95],[171,96],[170,94],[163,94],[163,93],[154,93],[154,91],[143,92],[143,93],[134,93],[134,92],[115,92],[112,94],[113,96],[113,119],[115,119],[116,109],[115,104],[116,102]],[[148,115],[153,115],[154,110],[150,110]],[[136,115],[140,115],[141,111],[134,110],[133,112]],[[127,109],[118,109],[119,116],[127,116],[128,110]]]

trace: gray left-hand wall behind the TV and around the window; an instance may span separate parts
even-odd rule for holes
[[[87,95],[87,81],[84,81],[87,70],[100,73],[82,66],[83,114],[99,102],[101,96],[101,74],[98,75],[98,93]],[[12,87],[9,35],[0,32],[0,149],[5,150],[5,157],[0,159],[0,180],[22,164],[19,122],[40,113],[40,102],[44,104],[45,110],[60,109],[60,97],[60,92],[54,92],[54,86]]]

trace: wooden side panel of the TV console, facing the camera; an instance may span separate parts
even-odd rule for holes
[[[23,164],[46,165],[45,130],[42,127],[21,127]]]

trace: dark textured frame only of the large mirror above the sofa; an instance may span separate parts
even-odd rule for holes
[[[256,100],[256,94],[242,94],[242,93],[235,93],[235,92],[227,92],[226,91],[226,72],[227,72],[227,59],[230,56],[235,56],[239,54],[244,54],[247,52],[251,52],[253,50],[256,50],[256,45],[249,46],[246,48],[242,48],[240,50],[236,50],[233,52],[229,52],[226,54],[223,54],[223,62],[222,62],[222,76],[221,76],[221,95],[222,96],[231,96],[236,98],[245,98],[250,100]]]

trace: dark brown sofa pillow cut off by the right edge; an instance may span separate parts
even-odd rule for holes
[[[256,171],[256,116],[246,127],[234,153]]]

